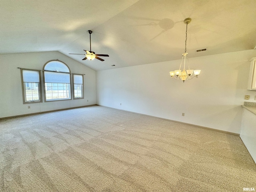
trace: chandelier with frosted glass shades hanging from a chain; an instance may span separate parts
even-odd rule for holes
[[[184,19],[184,23],[186,24],[186,40],[185,40],[185,53],[182,54],[182,60],[180,63],[180,68],[182,66],[182,62],[184,62],[184,68],[183,71],[180,70],[175,70],[175,71],[170,71],[170,76],[172,78],[175,78],[176,80],[182,80],[185,82],[187,79],[192,79],[194,77],[198,78],[198,75],[200,74],[201,70],[193,70],[189,68],[189,62],[188,62],[188,53],[187,51],[187,34],[188,34],[188,24],[191,22],[191,18],[186,18]],[[188,62],[188,70],[185,70],[185,65],[186,65],[186,60]],[[194,76],[192,76],[194,72]],[[174,76],[176,75],[176,77]]]

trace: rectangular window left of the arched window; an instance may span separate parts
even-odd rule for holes
[[[40,90],[41,76],[39,70],[20,69],[23,103],[42,102]]]

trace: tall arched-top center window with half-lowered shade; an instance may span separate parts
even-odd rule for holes
[[[59,60],[44,65],[45,101],[68,100],[70,96],[70,70]]]

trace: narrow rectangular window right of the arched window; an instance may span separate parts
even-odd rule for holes
[[[84,78],[81,74],[73,74],[73,92],[74,99],[84,98]]]

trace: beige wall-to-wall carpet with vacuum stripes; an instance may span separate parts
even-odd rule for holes
[[[242,192],[238,136],[102,106],[0,121],[1,192]]]

